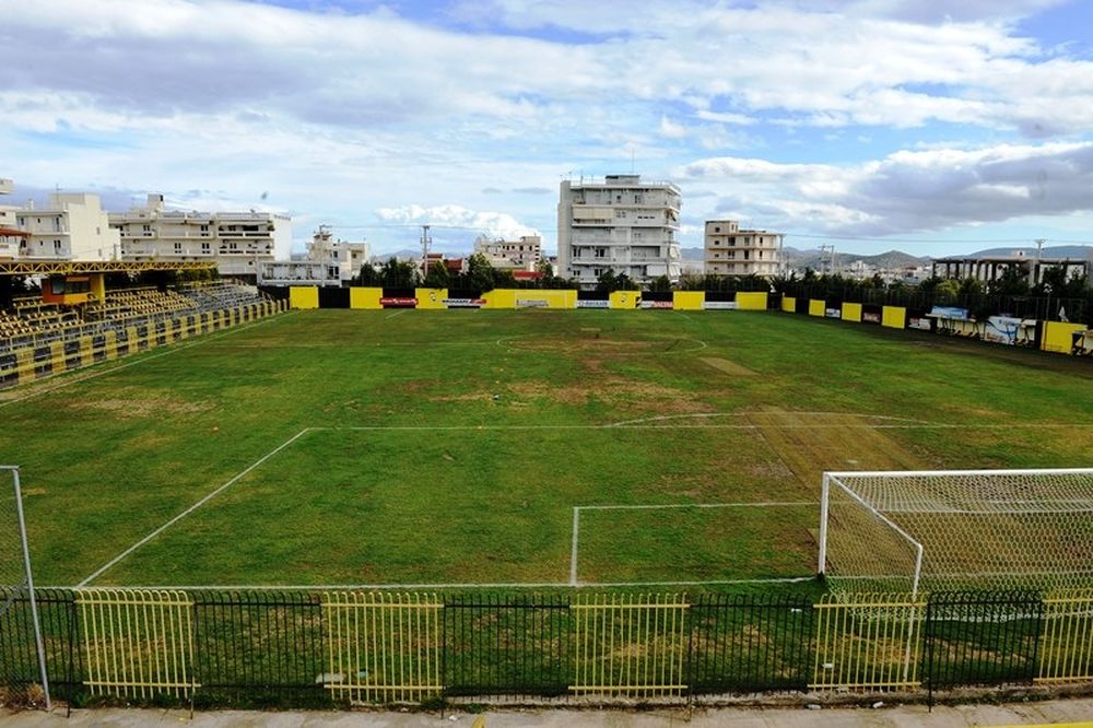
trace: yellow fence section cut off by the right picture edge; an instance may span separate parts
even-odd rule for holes
[[[1035,681],[1093,680],[1093,589],[1055,591],[1044,599],[1044,634]]]

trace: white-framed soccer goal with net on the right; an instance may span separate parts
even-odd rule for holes
[[[1093,586],[1093,468],[826,472],[819,572],[842,592]]]

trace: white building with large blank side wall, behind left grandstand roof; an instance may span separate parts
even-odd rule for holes
[[[110,228],[97,195],[54,192],[46,209],[38,210],[28,202],[15,209],[14,216],[15,228],[26,234],[19,243],[19,258],[117,259],[118,233]]]

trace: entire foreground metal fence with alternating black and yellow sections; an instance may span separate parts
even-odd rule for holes
[[[9,680],[38,680],[25,591]],[[54,695],[239,707],[701,703],[1093,679],[1093,592],[425,595],[38,589]]]

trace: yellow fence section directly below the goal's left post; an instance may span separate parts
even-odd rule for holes
[[[925,597],[857,594],[850,601],[825,595],[815,604],[813,690],[913,690]]]

